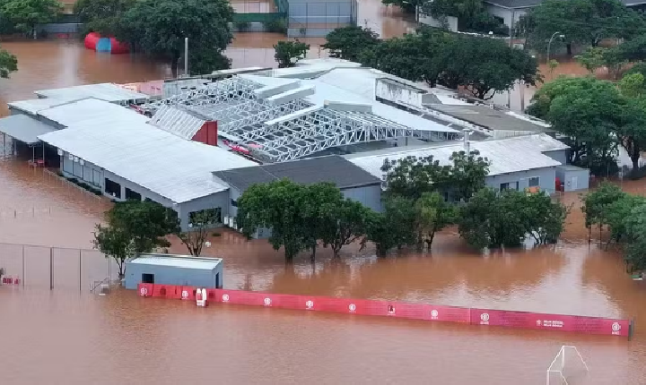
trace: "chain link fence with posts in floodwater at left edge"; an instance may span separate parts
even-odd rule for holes
[[[0,244],[4,276],[23,287],[90,291],[118,279],[118,265],[96,250]]]

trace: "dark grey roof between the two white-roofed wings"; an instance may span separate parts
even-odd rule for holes
[[[340,189],[381,184],[380,178],[336,155],[217,171],[214,175],[240,192],[253,184],[270,183],[283,178],[299,184],[331,182]]]

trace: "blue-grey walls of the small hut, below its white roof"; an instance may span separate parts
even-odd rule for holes
[[[223,263],[220,263],[215,270],[196,270],[126,262],[126,288],[136,289],[141,283],[142,274],[154,274],[155,285],[205,288],[223,286]]]

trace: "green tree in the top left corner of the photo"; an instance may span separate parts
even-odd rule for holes
[[[61,11],[63,4],[58,0],[5,0],[0,3],[4,21],[31,36],[36,36],[36,25],[54,21]]]

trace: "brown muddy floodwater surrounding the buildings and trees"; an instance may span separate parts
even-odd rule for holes
[[[360,1],[359,18],[386,37],[412,26],[374,0]],[[239,34],[227,54],[237,67],[273,66],[277,39]],[[310,57],[319,56],[317,41]],[[4,103],[31,98],[33,90],[170,76],[164,64],[96,55],[76,41],[3,47],[18,56],[20,71],[0,81],[0,115]],[[645,193],[644,186],[624,183],[633,193]],[[578,196],[563,200],[576,204]],[[448,231],[423,254],[378,259],[370,247],[350,247],[340,260],[322,250],[313,265],[307,256],[285,265],[265,241],[223,231],[205,254],[224,258],[225,288],[634,318],[630,342],[243,306],[198,309],[127,290],[91,294],[96,282],[116,275],[91,250],[93,227],[108,208],[24,161],[0,161],[0,267],[25,283],[0,287],[1,384],[538,384],[563,345],[578,347],[589,365],[571,384],[644,383],[646,284],[625,274],[617,252],[588,244],[576,207],[563,242],[532,251],[481,255]],[[175,244],[171,251],[184,249]]]

